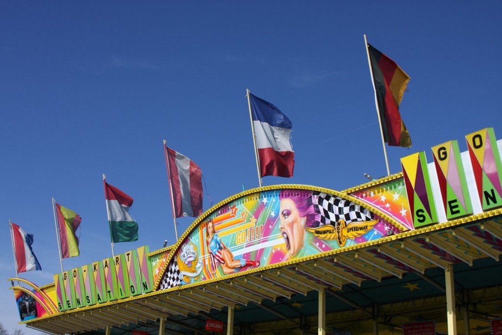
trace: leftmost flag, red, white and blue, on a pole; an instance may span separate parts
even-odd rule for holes
[[[11,222],[16,254],[17,272],[42,270],[37,256],[33,253],[33,235],[26,233],[21,227]]]

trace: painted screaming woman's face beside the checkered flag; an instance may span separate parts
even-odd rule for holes
[[[286,249],[290,256],[295,256],[303,246],[305,230],[303,228],[296,204],[289,198],[281,200],[279,208],[279,230],[286,241]]]

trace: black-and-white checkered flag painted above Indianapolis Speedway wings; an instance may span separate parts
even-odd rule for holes
[[[320,226],[333,225],[339,219],[343,219],[347,224],[356,221],[371,220],[371,212],[352,201],[343,199],[326,193],[319,193],[317,202],[313,199],[316,211],[321,214]]]

